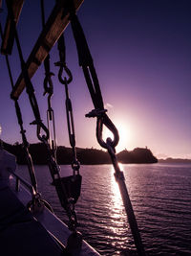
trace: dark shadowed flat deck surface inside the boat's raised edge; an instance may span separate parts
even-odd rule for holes
[[[11,188],[1,181],[0,205],[1,255],[60,256],[63,253],[43,225],[32,217]]]

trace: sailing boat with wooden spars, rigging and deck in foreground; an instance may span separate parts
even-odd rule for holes
[[[3,169],[3,172],[1,171],[2,178],[0,179],[0,204],[2,209],[0,213],[0,251],[2,255],[99,255],[90,244],[87,244],[83,240],[82,234],[77,231],[77,218],[74,211],[74,205],[80,197],[82,177],[79,174],[80,163],[76,157],[73,107],[68,90],[68,84],[73,80],[73,76],[66,64],[63,37],[63,32],[69,23],[72,25],[79,65],[82,67],[95,106],[95,109],[90,111],[86,116],[96,118],[97,141],[111,156],[111,162],[115,169],[115,177],[138,249],[138,255],[145,255],[138,232],[138,224],[126,189],[124,175],[120,171],[117,162],[115,150],[119,139],[117,128],[108,117],[106,113],[107,110],[104,108],[94,61],[90,54],[82,27],[76,16],[76,11],[79,9],[82,2],[83,0],[57,0],[53,11],[45,22],[44,2],[41,1],[42,32],[36,40],[31,55],[27,61],[25,61],[16,29],[24,0],[7,1],[8,17],[4,32],[1,28],[1,53],[5,55],[9,70],[12,87],[11,99],[14,101],[15,105],[31,183],[14,173],[14,157],[1,147],[0,152],[3,160],[1,160],[0,164],[4,163],[2,164],[2,168],[0,168],[0,170]],[[15,83],[12,80],[9,61],[14,42],[21,63],[21,73]],[[65,86],[69,140],[73,150],[73,175],[68,177],[60,176],[60,168],[56,161],[54,115],[51,103],[53,96],[53,82],[51,77],[53,74],[50,71],[49,56],[56,42],[58,43],[60,59],[55,65],[59,67],[58,80]],[[47,126],[41,120],[31,81],[32,76],[42,63],[44,63],[45,67],[45,94],[48,95]],[[48,167],[53,178],[53,186],[69,218],[68,226],[53,214],[51,205],[41,197],[37,189],[37,180],[32,164],[32,157],[29,152],[29,143],[23,127],[22,111],[18,102],[25,88],[34,115],[32,125],[36,126],[37,138],[46,146]],[[106,141],[103,140],[102,130],[104,126],[110,129],[114,134],[113,140],[111,138],[108,138]],[[6,173],[4,172],[5,169]],[[10,175],[14,177],[14,188],[10,185]]]

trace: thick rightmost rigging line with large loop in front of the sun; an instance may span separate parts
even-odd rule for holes
[[[74,9],[71,13],[71,24],[74,34],[74,40],[77,47],[78,52],[78,58],[79,58],[79,65],[82,66],[84,75],[87,81],[87,85],[90,90],[90,94],[92,96],[93,103],[95,107],[98,109],[93,110],[89,114],[87,114],[87,117],[96,117],[96,137],[97,141],[100,144],[101,147],[107,149],[107,151],[110,154],[114,169],[115,169],[115,176],[116,180],[119,186],[121,198],[123,200],[123,204],[127,213],[128,221],[130,223],[131,231],[134,237],[134,241],[138,250],[139,256],[144,256],[144,246],[141,241],[141,237],[138,231],[138,223],[136,221],[136,217],[134,214],[134,210],[131,204],[131,200],[128,195],[128,191],[126,188],[126,184],[124,181],[124,175],[119,170],[118,162],[117,162],[117,155],[115,147],[117,146],[118,142],[118,132],[117,128],[114,126],[112,121],[109,119],[109,117],[106,115],[106,110],[102,108],[103,106],[103,100],[100,92],[99,83],[96,76],[96,70],[93,64],[93,58],[90,54],[90,50],[87,45],[87,41],[85,38],[85,35],[83,33],[83,30],[81,28],[81,25],[79,24],[78,18],[74,13]],[[89,68],[89,70],[88,70]],[[89,73],[90,72],[90,73]],[[92,80],[91,77],[92,76]],[[94,84],[93,84],[94,82]],[[95,87],[94,87],[95,86]],[[100,106],[100,108],[99,108]],[[112,141],[111,138],[107,138],[106,142],[102,139],[102,128],[103,125],[105,125],[107,128],[109,128],[113,134],[114,134],[114,140]]]

